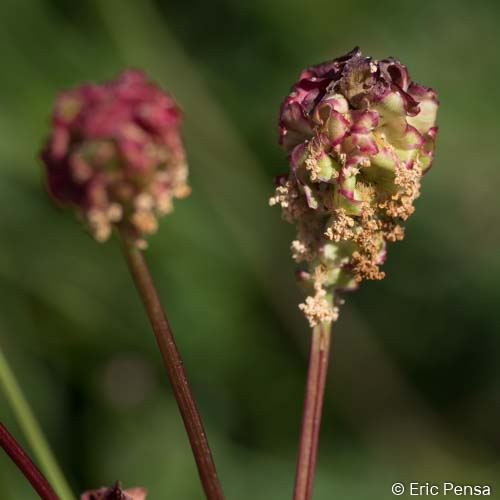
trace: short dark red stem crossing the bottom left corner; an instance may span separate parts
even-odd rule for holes
[[[9,431],[0,422],[0,446],[9,455],[12,461],[19,467],[26,479],[31,483],[33,489],[43,500],[58,500],[54,490],[47,482],[43,474],[37,469],[30,457],[19,446]]]

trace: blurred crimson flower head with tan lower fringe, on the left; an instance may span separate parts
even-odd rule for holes
[[[158,216],[190,191],[180,119],[173,99],[140,71],[62,93],[42,152],[49,193],[73,206],[96,240],[126,223],[145,246]]]

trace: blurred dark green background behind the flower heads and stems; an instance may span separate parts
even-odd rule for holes
[[[499,5],[1,0],[0,343],[76,492],[122,479],[202,498],[116,240],[41,187],[55,94],[134,66],[184,109],[193,193],[147,259],[228,499],[288,499],[309,333],[293,228],[267,206],[286,169],[277,112],[304,66],[360,45],[438,90],[440,133],[387,278],[335,327],[315,498],[389,499],[408,480],[500,498]],[[25,443],[1,395],[0,419]],[[0,498],[34,498],[3,453]]]

